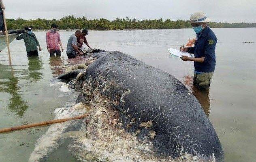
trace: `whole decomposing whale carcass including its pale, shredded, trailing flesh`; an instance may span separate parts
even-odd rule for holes
[[[96,52],[58,77],[77,91],[56,118],[89,116],[51,125],[29,161],[46,160],[64,138],[81,161],[224,160],[213,126],[180,81],[122,52]]]

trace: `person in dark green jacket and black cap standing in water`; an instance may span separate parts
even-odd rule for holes
[[[28,56],[38,56],[37,46],[39,47],[39,51],[42,50],[31,27],[25,27],[25,33],[19,35],[16,39],[24,40]]]

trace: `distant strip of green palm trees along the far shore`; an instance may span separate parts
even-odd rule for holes
[[[158,20],[136,20],[136,19],[115,19],[109,21],[103,18],[100,20],[87,20],[85,17],[76,18],[74,16],[63,17],[60,20],[52,19],[7,19],[8,29],[23,29],[25,26],[31,26],[34,29],[50,29],[52,23],[56,23],[59,29],[178,29],[190,28],[188,21],[170,19],[163,21]],[[209,23],[210,27],[256,27],[256,23]]]

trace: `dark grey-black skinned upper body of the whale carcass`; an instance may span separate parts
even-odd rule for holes
[[[91,53],[97,60],[80,76],[79,102],[98,96],[115,101],[119,122],[154,151],[173,158],[182,154],[224,160],[218,136],[198,100],[175,77],[122,52]]]

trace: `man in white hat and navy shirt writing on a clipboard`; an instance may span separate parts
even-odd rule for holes
[[[217,38],[210,27],[207,26],[207,19],[204,12],[195,12],[190,17],[190,23],[196,32],[194,47],[181,47],[181,52],[194,54],[195,58],[182,56],[183,61],[194,61],[194,85],[198,89],[210,87],[211,78],[215,69],[215,46]]]

